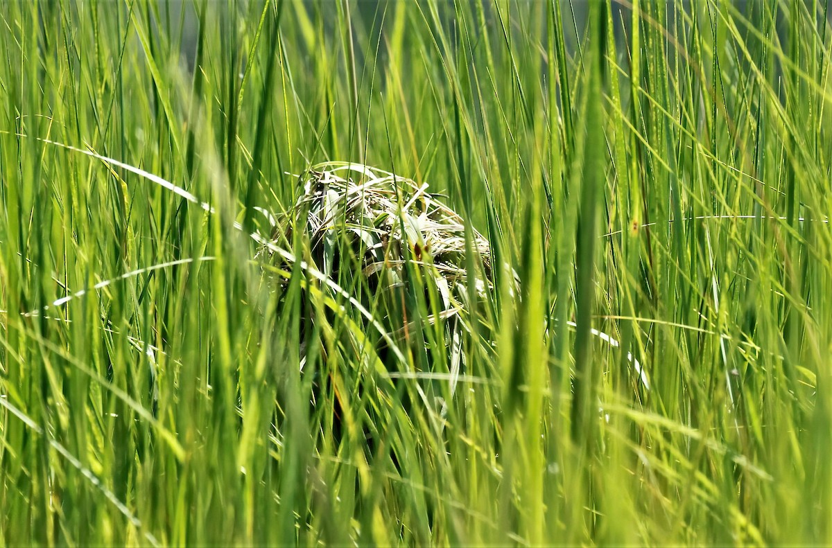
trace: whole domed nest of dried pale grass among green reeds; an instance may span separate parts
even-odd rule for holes
[[[466,229],[427,184],[384,170],[328,162],[299,180],[295,204],[276,220],[275,244],[298,249],[300,235],[306,263],[343,289],[333,297],[354,297],[350,302],[364,306],[397,344],[423,356],[441,348],[448,358],[449,352],[449,368],[458,373],[462,333],[494,285],[488,239]]]

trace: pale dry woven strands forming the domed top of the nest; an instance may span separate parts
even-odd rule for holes
[[[468,228],[466,241],[462,217],[429,194],[427,184],[340,162],[315,165],[301,179],[302,193],[278,220],[274,239],[288,244],[293,230],[303,230],[311,259],[326,276],[343,280],[343,269],[360,271],[374,289],[391,289],[402,284],[410,261],[428,269],[448,315],[463,306],[466,257],[473,253],[477,293],[493,287],[488,239]]]

